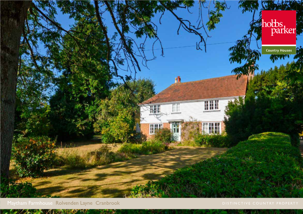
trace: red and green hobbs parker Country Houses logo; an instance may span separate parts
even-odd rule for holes
[[[296,54],[296,11],[262,11],[262,54]]]

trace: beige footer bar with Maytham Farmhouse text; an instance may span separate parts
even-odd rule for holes
[[[1,209],[303,209],[301,198],[1,198]]]

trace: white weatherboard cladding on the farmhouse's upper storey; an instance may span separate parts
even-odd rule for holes
[[[209,100],[219,100],[219,110],[204,110],[204,101],[207,100],[193,100],[193,101],[181,101],[180,112],[172,112],[172,104],[177,103],[165,103],[160,104],[160,114],[150,114],[148,105],[140,107],[141,111],[141,123],[169,123],[172,120],[184,120],[191,121],[197,120],[202,122],[223,121],[225,107],[228,101],[235,100],[236,97],[217,98]]]

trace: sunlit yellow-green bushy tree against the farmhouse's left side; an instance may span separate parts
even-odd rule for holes
[[[99,100],[94,130],[101,133],[102,142],[129,142],[134,136],[135,123],[140,122],[140,108],[137,104],[154,94],[153,82],[139,79],[128,82],[127,86],[119,85],[111,91],[109,98]]]

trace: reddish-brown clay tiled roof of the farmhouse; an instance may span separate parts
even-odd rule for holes
[[[235,75],[179,82],[172,84],[142,104],[243,96],[246,93],[246,86],[247,76],[242,76],[237,80]]]

